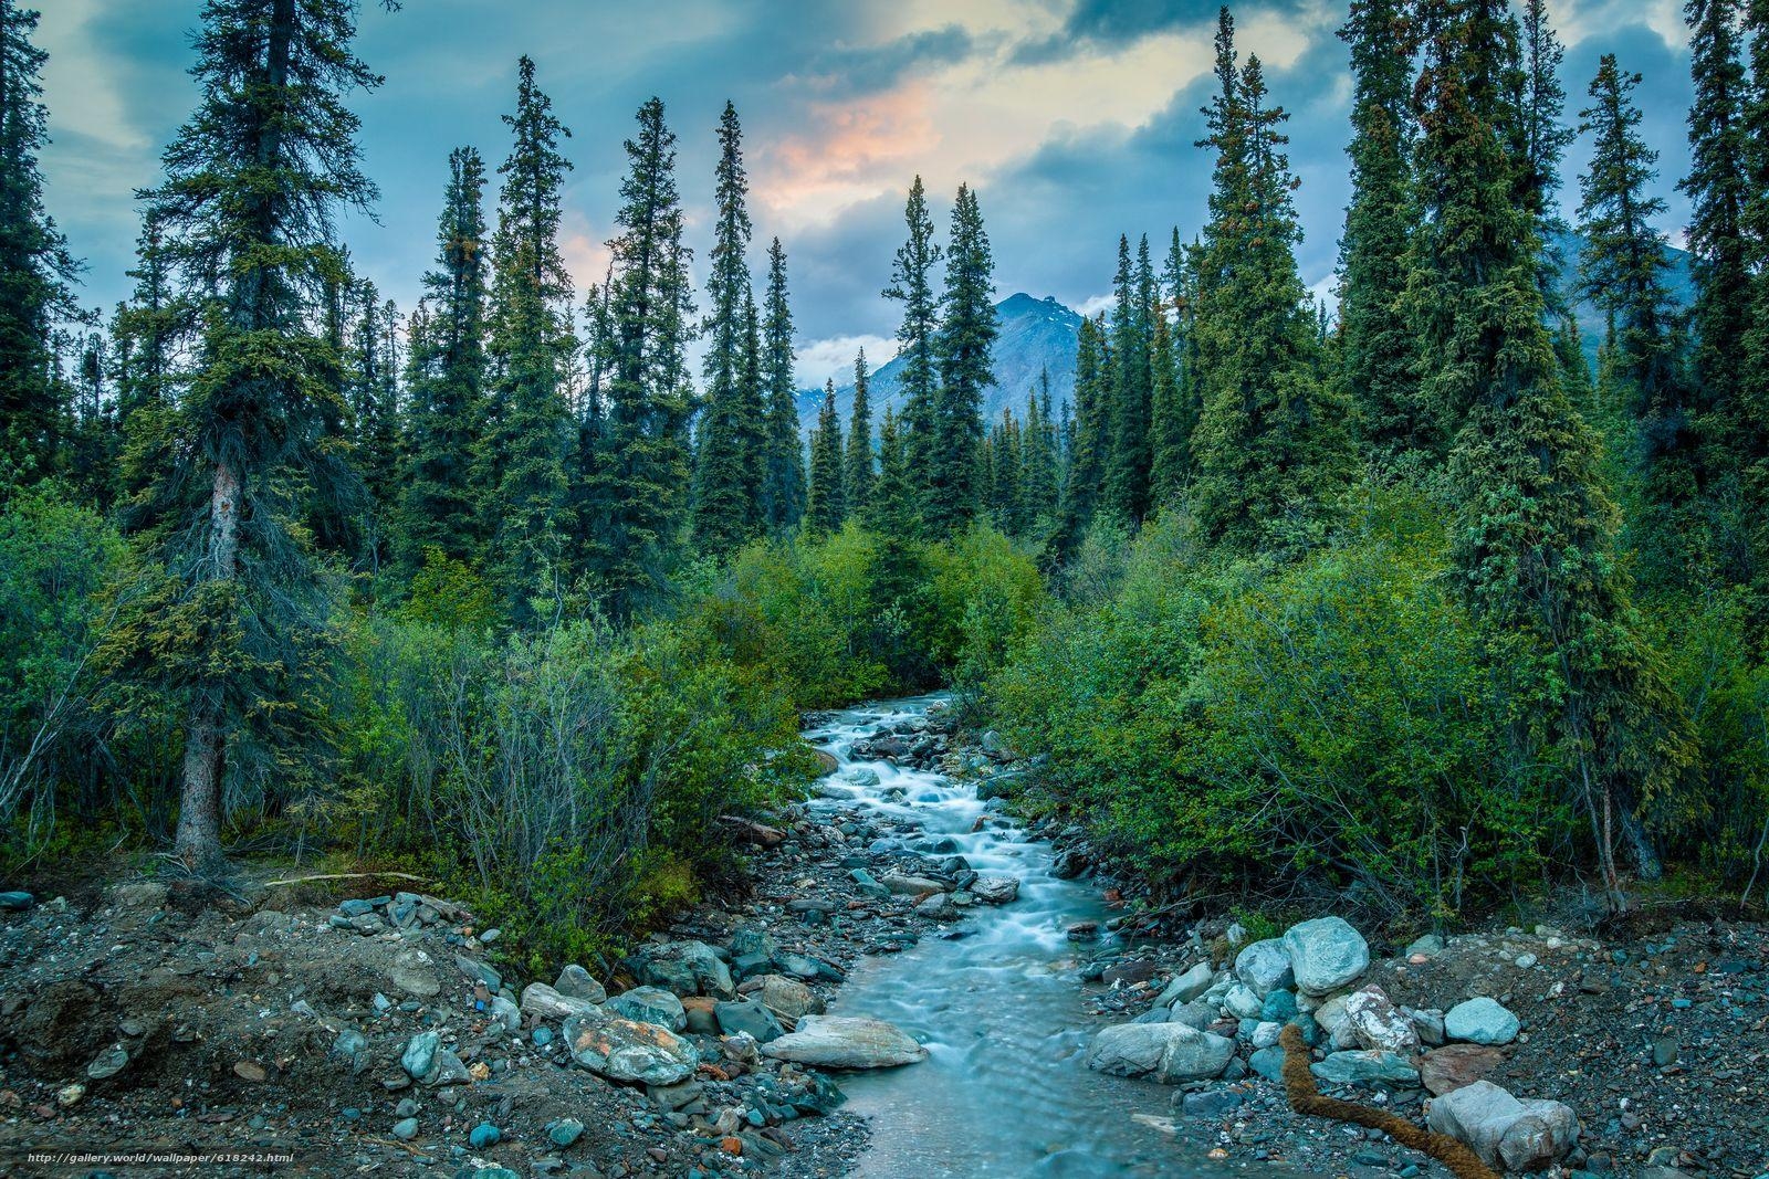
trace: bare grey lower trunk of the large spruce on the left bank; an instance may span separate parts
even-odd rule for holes
[[[209,551],[196,573],[198,583],[232,582],[235,576],[239,491],[239,472],[216,463],[214,488],[209,493]],[[221,608],[232,610],[234,603],[223,599]],[[226,741],[221,721],[221,684],[205,681],[196,688],[184,737],[184,788],[173,841],[173,852],[191,871],[212,873],[226,863],[221,854],[221,771]]]

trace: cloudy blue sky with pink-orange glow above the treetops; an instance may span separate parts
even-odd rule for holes
[[[159,152],[196,88],[191,30],[200,0],[37,0],[48,49],[53,143],[46,202],[85,258],[87,306],[129,292],[138,209]],[[1233,5],[1242,53],[1267,65],[1290,113],[1300,177],[1302,278],[1332,286],[1350,196],[1344,0]],[[1603,53],[1643,74],[1642,133],[1659,157],[1681,242],[1688,166],[1688,37],[1679,0],[1551,0],[1567,42],[1567,117]],[[1024,290],[1077,308],[1106,302],[1120,233],[1148,233],[1157,258],[1173,226],[1206,216],[1210,159],[1194,141],[1210,97],[1214,0],[405,0],[363,5],[357,53],[386,85],[350,97],[363,118],[375,219],[343,221],[357,270],[410,309],[435,255],[448,154],[509,152],[501,115],[515,65],[536,60],[554,113],[571,129],[564,255],[582,292],[607,265],[603,242],[624,171],[621,141],[651,95],[679,136],[678,186],[695,276],[711,244],[715,127],[727,99],[743,120],[761,278],[770,237],[787,251],[800,384],[837,375],[865,346],[892,352],[899,306],[879,297],[904,235],[902,203],[922,175],[945,237],[952,194],[971,184],[996,258],[999,297]],[[1585,141],[1566,164],[1567,216]],[[495,189],[495,186],[494,186]],[[495,196],[495,193],[494,193]],[[488,210],[490,212],[490,210]],[[704,304],[704,297],[701,299]]]

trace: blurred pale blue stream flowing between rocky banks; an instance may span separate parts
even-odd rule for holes
[[[1005,818],[985,815],[969,785],[941,774],[853,760],[849,748],[879,725],[927,712],[939,696],[849,709],[805,737],[839,769],[821,806],[860,806],[950,836],[971,868],[1019,877],[1019,900],[976,907],[902,955],[862,960],[831,1013],[888,1020],[920,1039],[929,1059],[842,1078],[849,1108],[872,1119],[860,1161],[870,1179],[992,1175],[1212,1175],[1210,1140],[1178,1142],[1132,1114],[1169,1115],[1171,1089],[1088,1071],[1099,1022],[1074,981],[1081,947],[1065,930],[1099,921],[1093,886],[1051,875],[1051,852]],[[877,783],[870,785],[876,774]],[[895,787],[904,792],[888,795]]]

